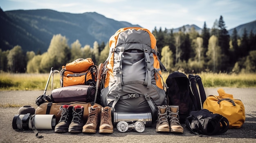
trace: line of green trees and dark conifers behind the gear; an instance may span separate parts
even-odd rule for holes
[[[199,34],[192,27],[185,32],[183,26],[179,32],[164,31],[160,27],[152,31],[157,39],[159,58],[169,72],[182,70],[185,73],[225,72],[256,73],[256,34],[244,29],[240,37],[234,29],[229,35],[223,17],[216,20],[211,29],[206,22]],[[105,62],[109,54],[109,45],[94,42],[93,47],[82,47],[79,40],[70,46],[67,38],[54,35],[47,52],[34,51],[24,53],[17,45],[11,50],[0,49],[0,71],[10,73],[48,73],[50,68],[60,70],[66,63],[78,58],[92,58],[95,65]]]

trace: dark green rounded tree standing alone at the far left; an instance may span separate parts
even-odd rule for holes
[[[11,73],[25,72],[25,57],[21,46],[14,46],[7,55],[7,66]]]

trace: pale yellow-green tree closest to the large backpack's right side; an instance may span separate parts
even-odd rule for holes
[[[168,71],[171,71],[173,68],[173,52],[170,50],[169,46],[164,46],[164,48],[162,48],[161,55],[161,62]]]

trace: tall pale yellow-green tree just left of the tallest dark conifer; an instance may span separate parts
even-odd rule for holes
[[[218,46],[218,38],[215,35],[212,35],[209,39],[208,51],[206,55],[209,59],[209,68],[216,73],[219,70],[221,63],[221,53],[220,46]]]

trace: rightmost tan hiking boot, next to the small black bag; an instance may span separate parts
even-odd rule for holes
[[[183,133],[183,127],[179,121],[179,106],[168,106],[168,119],[170,119],[170,132]]]

